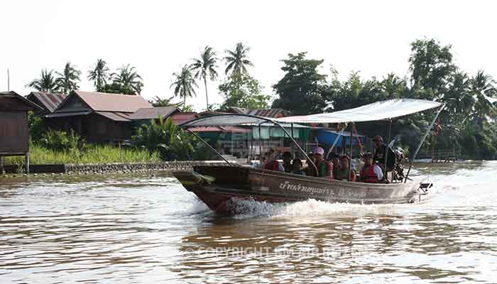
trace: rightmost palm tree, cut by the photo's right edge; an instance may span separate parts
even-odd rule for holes
[[[475,77],[471,78],[471,93],[476,98],[475,118],[479,126],[483,124],[488,116],[496,114],[496,109],[488,100],[489,97],[497,97],[497,89],[493,86],[495,81],[483,70],[479,70]]]

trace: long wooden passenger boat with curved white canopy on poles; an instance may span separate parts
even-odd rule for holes
[[[293,140],[293,136],[281,126],[282,123],[290,123],[292,127],[293,123],[345,123],[351,126],[361,121],[386,120],[391,123],[392,119],[400,116],[428,109],[437,109],[429,129],[422,136],[420,144],[411,159],[414,160],[443,107],[444,104],[419,99],[391,99],[344,111],[307,116],[288,116],[279,119],[269,119],[246,114],[216,114],[187,121],[181,126],[183,129],[188,130],[197,126],[260,125],[271,122],[280,126],[286,135]],[[191,133],[197,136],[195,133]],[[390,133],[388,135],[390,136]],[[203,141],[199,136],[197,138]],[[207,142],[203,142],[209,146]],[[298,143],[295,140],[293,142],[302,151],[302,154],[310,160],[307,153],[300,148]],[[334,141],[334,143],[336,142]],[[219,154],[211,146],[209,148]],[[222,157],[222,155],[220,156]],[[225,161],[226,165],[200,165],[195,166],[190,171],[175,171],[173,175],[180,180],[188,191],[195,193],[200,200],[207,204],[210,209],[221,214],[236,214],[243,211],[244,208],[240,208],[237,205],[239,202],[236,202],[236,200],[240,199],[260,202],[295,202],[315,199],[326,202],[358,204],[409,203],[421,200],[421,196],[426,195],[427,188],[431,186],[414,182],[408,178],[413,165],[412,162],[409,165],[407,175],[396,182],[393,180],[388,183],[366,183],[329,180],[274,170],[249,168],[230,163],[228,160]],[[315,167],[314,163],[312,163],[312,166]]]

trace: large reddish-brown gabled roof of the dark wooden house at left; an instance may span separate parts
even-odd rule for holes
[[[135,112],[141,108],[152,107],[143,97],[132,94],[72,91],[65,101],[73,95],[80,97],[94,111]]]

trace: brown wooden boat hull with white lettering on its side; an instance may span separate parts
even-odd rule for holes
[[[182,185],[207,206],[221,214],[239,213],[236,199],[263,202],[322,200],[356,204],[413,202],[420,185],[407,183],[364,183],[306,177],[273,170],[224,165],[202,165],[194,171],[173,172]]]

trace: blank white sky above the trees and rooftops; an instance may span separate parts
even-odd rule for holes
[[[461,69],[497,77],[496,1],[22,1],[0,3],[0,90],[26,95],[25,85],[67,60],[82,70],[80,89],[93,90],[87,71],[104,58],[114,71],[130,63],[143,77],[142,96],[171,97],[173,76],[205,45],[219,53],[243,41],[249,70],[267,93],[282,76],[279,60],[308,51],[346,77],[408,73],[410,43],[437,38],[452,44]],[[221,54],[223,55],[223,54]],[[219,73],[224,75],[224,62]],[[222,102],[217,82],[209,102]],[[195,109],[205,108],[203,84]],[[180,99],[176,99],[179,101]]]

